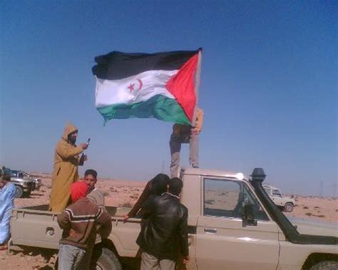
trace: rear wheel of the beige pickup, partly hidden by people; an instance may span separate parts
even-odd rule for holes
[[[116,254],[106,247],[97,247],[91,257],[91,269],[122,270],[122,266]]]

